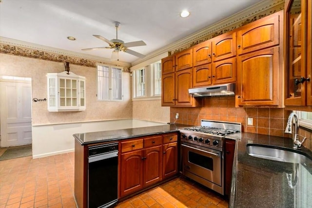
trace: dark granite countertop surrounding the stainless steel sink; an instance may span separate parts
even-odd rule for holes
[[[312,164],[262,159],[246,151],[250,143],[292,150],[291,138],[255,133],[238,133],[227,138],[236,140],[230,208],[312,207]],[[312,159],[311,151],[305,147],[300,151]]]

